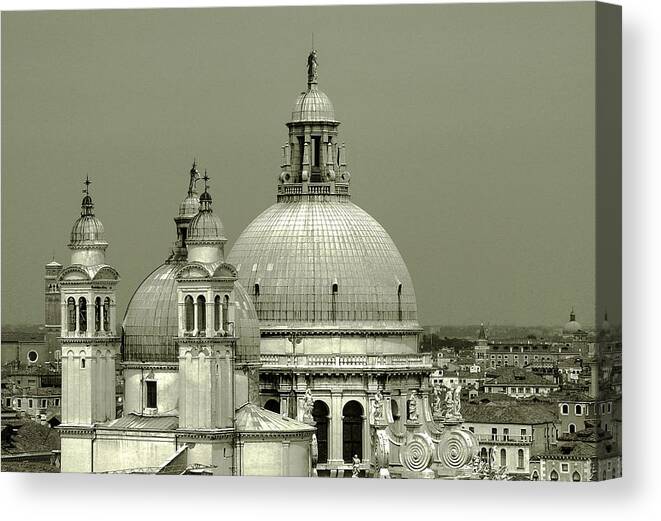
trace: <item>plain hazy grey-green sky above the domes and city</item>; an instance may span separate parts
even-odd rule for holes
[[[275,200],[312,32],[353,201],[421,322],[593,322],[591,3],[3,13],[2,322],[43,320],[87,173],[121,314],[193,156],[231,247]]]

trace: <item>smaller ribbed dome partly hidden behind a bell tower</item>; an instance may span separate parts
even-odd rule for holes
[[[177,281],[175,274],[186,262],[162,264],[152,271],[131,297],[124,315],[124,359],[176,362]],[[250,297],[241,284],[234,285],[236,355],[241,361],[259,360],[259,322]]]

